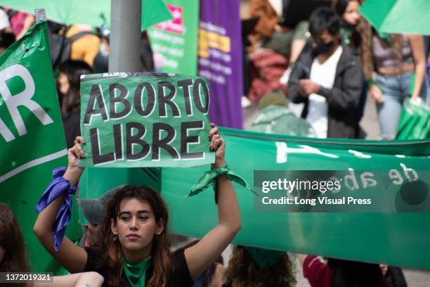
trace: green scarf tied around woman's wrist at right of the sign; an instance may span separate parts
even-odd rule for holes
[[[215,192],[215,202],[217,202],[216,178],[221,176],[227,177],[231,181],[235,181],[237,184],[240,184],[241,186],[245,187],[245,189],[252,191],[256,196],[258,196],[258,194],[252,190],[251,186],[249,186],[247,181],[245,181],[243,177],[240,177],[240,175],[237,175],[232,172],[226,164],[223,167],[215,168],[214,170],[208,170],[207,172],[204,172],[203,176],[200,177],[197,183],[194,184],[193,187],[191,187],[191,191],[186,197],[195,196],[196,194],[201,193],[202,191],[207,189],[209,186],[213,186]]]

